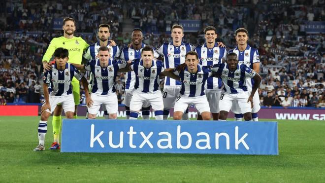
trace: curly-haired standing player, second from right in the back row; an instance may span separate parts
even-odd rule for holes
[[[204,30],[205,43],[195,48],[198,59],[202,66],[213,66],[221,64],[222,59],[226,59],[227,50],[218,46],[216,43],[217,30],[212,26],[208,26]],[[204,93],[208,99],[213,120],[219,119],[219,100],[221,95],[222,81],[217,77],[209,77],[206,80]],[[202,119],[198,115],[198,120]]]

